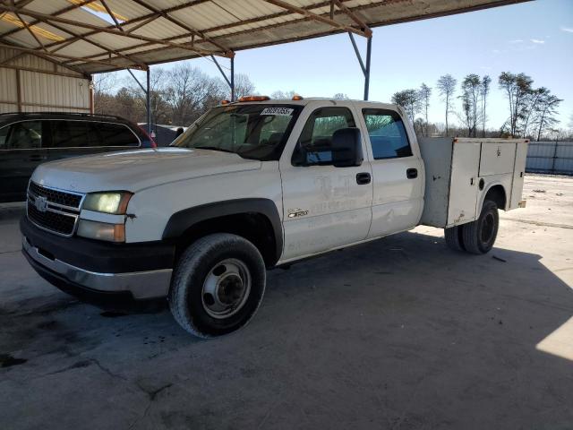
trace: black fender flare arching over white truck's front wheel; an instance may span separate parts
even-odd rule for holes
[[[242,213],[260,213],[269,219],[275,237],[276,261],[278,261],[283,252],[282,221],[275,202],[264,198],[212,202],[175,212],[167,221],[167,225],[163,230],[163,239],[179,237],[186,230],[201,221]]]

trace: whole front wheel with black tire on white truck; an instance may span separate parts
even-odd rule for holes
[[[185,331],[212,338],[244,327],[261,305],[266,270],[241,236],[217,233],[190,245],[175,266],[169,307]]]

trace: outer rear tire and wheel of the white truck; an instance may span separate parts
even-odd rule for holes
[[[495,243],[500,228],[498,205],[491,200],[486,200],[483,202],[480,218],[460,228],[462,228],[463,244],[468,253],[488,253]]]

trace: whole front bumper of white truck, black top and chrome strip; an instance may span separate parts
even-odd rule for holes
[[[175,247],[165,243],[107,244],[80,237],[59,237],[21,219],[22,253],[51,284],[83,298],[166,297]],[[147,270],[146,270],[147,269]]]

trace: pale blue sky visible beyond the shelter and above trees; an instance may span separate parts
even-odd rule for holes
[[[498,76],[526,73],[535,87],[547,87],[564,99],[558,126],[568,128],[573,116],[573,0],[536,0],[372,30],[371,100],[389,102],[394,92],[425,82],[433,89],[429,121],[443,123],[445,108],[435,89],[440,75],[450,73],[459,83],[468,73],[488,74],[488,128],[499,128],[509,107]],[[365,39],[355,39],[365,57]],[[220,76],[206,58],[187,62]],[[220,63],[228,67],[227,59]],[[363,98],[363,74],[347,34],[237,51],[235,73],[248,75],[257,92],[266,95],[295,90],[304,97],[342,92],[350,99]],[[458,100],[455,108],[461,111]]]

